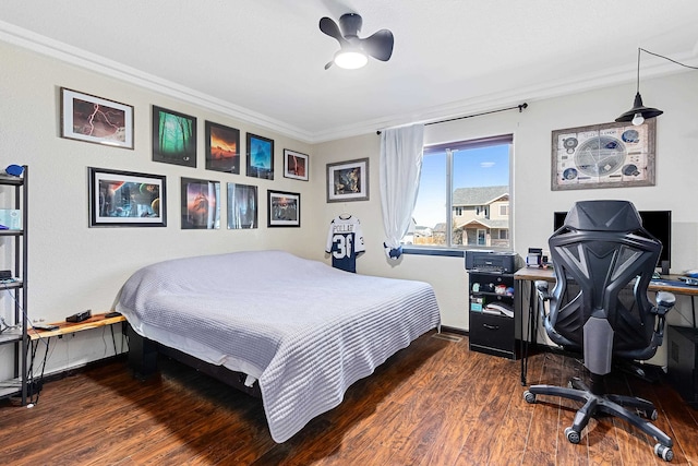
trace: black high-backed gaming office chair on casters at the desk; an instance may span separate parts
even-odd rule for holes
[[[627,201],[576,203],[549,244],[555,286],[549,292],[546,282],[535,283],[543,324],[553,342],[583,354],[591,384],[575,378],[567,387],[532,385],[524,398],[535,403],[537,395],[552,395],[582,402],[571,427],[565,429],[571,443],[579,443],[589,419],[603,413],[653,437],[659,442],[654,453],[671,461],[672,439],[635,413],[655,420],[654,405],[604,390],[604,375],[611,372],[613,358],[647,360],[662,344],[665,314],[675,298],[660,291],[653,306],[647,296],[662,244],[642,228],[639,214]],[[633,302],[624,303],[618,295],[633,283]]]

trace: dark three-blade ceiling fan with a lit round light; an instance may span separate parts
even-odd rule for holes
[[[357,69],[365,65],[369,56],[381,61],[388,61],[393,55],[393,33],[381,29],[366,37],[359,38],[363,20],[357,13],[346,13],[339,19],[339,25],[329,17],[320,20],[320,31],[334,37],[339,43],[339,51],[333,61],[325,64],[325,70],[336,63],[337,67]]]

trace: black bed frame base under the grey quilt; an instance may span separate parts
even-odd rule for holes
[[[237,372],[226,369],[222,366],[204,362],[191,355],[160,345],[157,342],[139,335],[133,331],[131,325],[128,325],[127,332],[129,336],[129,368],[136,379],[146,380],[153,377],[157,372],[158,355],[163,355],[196,369],[206,375],[213,377],[226,385],[230,385],[254,397],[262,398],[258,382],[255,381],[252,386],[246,386],[244,381],[248,375],[243,372]]]

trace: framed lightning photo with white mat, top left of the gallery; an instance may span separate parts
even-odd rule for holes
[[[133,148],[133,107],[61,87],[61,138]]]

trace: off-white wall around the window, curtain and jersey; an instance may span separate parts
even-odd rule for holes
[[[613,121],[627,110],[635,95],[628,84],[540,101],[516,110],[426,127],[425,143],[514,134],[514,248],[525,256],[529,247],[542,247],[553,231],[553,212],[567,211],[578,200],[625,199],[638,210],[673,211],[672,273],[698,268],[698,208],[695,186],[698,174],[698,108],[695,72],[642,81],[646,104],[665,115],[657,123],[657,183],[642,188],[551,191],[551,133],[554,130]],[[337,162],[371,157],[371,202],[324,206],[326,223],[339,212],[361,219],[366,253],[358,260],[358,272],[430,282],[436,289],[443,324],[468,328],[467,273],[459,258],[404,255],[396,264],[383,252],[384,239],[378,193],[380,138],[369,134],[315,146],[317,160]],[[670,322],[687,324],[690,302],[678,298]],[[681,314],[683,313],[684,316]]]

